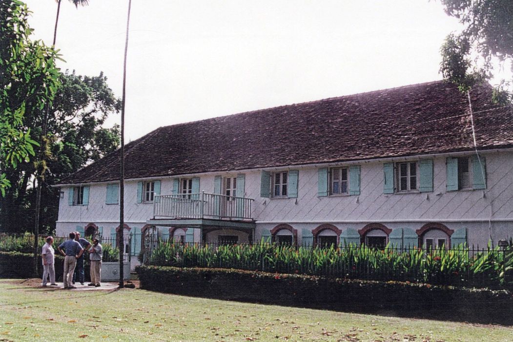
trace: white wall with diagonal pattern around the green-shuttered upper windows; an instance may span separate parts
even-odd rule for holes
[[[383,194],[383,164],[373,161],[360,164],[360,196],[319,197],[317,167],[312,165],[299,168],[297,199],[261,198],[260,170],[246,172],[245,197],[255,200],[252,205],[253,218],[257,220],[255,238],[260,239],[264,229],[289,223],[298,230],[301,241],[302,229],[312,230],[326,222],[342,231],[347,228],[358,230],[370,222],[383,223],[391,229],[407,227],[413,230],[427,222],[439,222],[455,231],[466,227],[470,244],[484,245],[490,235],[494,241],[509,238],[513,236],[513,153],[483,155],[486,157],[487,176],[487,189],[484,191],[447,192],[445,157],[433,158],[434,191],[431,193]],[[216,175],[228,174],[198,175],[201,177],[200,189],[212,193]],[[161,194],[170,194],[171,189],[172,179],[163,178]],[[104,227],[118,225],[119,205],[105,204],[106,183],[90,186],[87,206],[68,205],[68,188],[61,191],[64,194],[57,222],[58,235],[89,222]],[[137,182],[126,182],[125,221],[129,226],[141,229],[146,220],[152,218],[153,205],[137,203],[136,194]],[[195,241],[199,242],[199,230],[195,231],[198,231],[195,232]]]

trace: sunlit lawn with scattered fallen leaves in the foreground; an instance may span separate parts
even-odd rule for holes
[[[513,340],[510,327],[266,306],[139,289],[47,290],[20,282],[0,280],[0,341]]]

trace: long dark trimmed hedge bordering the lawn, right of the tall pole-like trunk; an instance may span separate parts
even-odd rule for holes
[[[513,305],[506,290],[210,268],[142,266],[136,272],[145,290],[342,311],[506,323]]]

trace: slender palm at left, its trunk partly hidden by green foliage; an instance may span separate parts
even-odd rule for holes
[[[61,1],[62,0],[56,0],[57,2],[57,15],[55,16],[55,28],[53,29],[53,43],[52,46],[55,47],[55,40],[57,38],[57,23],[59,21],[59,12],[61,11]],[[76,8],[78,8],[78,5],[86,6],[89,4],[89,0],[69,0],[73,5],[75,5]],[[50,111],[50,104],[46,104],[46,111],[43,118],[43,125],[41,129],[41,146],[39,150],[39,156],[38,156],[38,162],[39,165],[38,169],[39,172],[36,170],[36,179],[37,179],[37,188],[36,188],[36,195],[35,195],[35,222],[34,222],[34,270],[37,274],[37,241],[39,239],[39,217],[41,212],[41,189],[43,186],[43,181],[45,179],[45,173],[46,173],[46,167],[44,166],[44,159],[45,154],[47,153],[47,143],[48,139],[46,136],[47,131],[47,125],[48,125],[48,115]]]

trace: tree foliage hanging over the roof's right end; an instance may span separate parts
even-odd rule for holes
[[[458,18],[464,28],[451,33],[441,47],[440,71],[444,79],[462,91],[493,77],[494,62],[513,72],[513,1],[511,0],[441,0],[445,12]],[[507,92],[510,82],[502,80],[496,100],[513,101]]]

